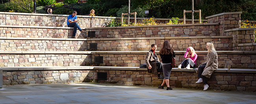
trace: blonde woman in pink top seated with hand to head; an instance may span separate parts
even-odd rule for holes
[[[184,55],[185,60],[183,60],[178,69],[185,68],[196,68],[197,67],[197,54],[195,53],[195,49],[193,47],[187,47],[187,51]]]

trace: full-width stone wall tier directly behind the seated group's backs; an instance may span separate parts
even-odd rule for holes
[[[22,53],[20,54],[1,54],[0,66],[2,67],[46,67],[46,66],[124,66],[139,67],[139,64],[145,63],[147,52],[141,53],[118,53],[118,54],[40,54],[40,53]],[[197,53],[197,65],[205,62],[206,55]],[[95,64],[95,57],[103,57],[102,64]],[[232,64],[232,68],[256,68],[256,55],[252,54],[229,54],[218,53],[219,68],[224,68],[225,64]],[[160,56],[158,56],[160,58]],[[176,53],[176,66],[184,60],[184,53]],[[161,61],[161,59],[160,59]],[[98,62],[98,60],[96,60]]]

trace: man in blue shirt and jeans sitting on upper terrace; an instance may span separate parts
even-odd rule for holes
[[[67,26],[68,27],[74,27],[74,31],[73,31],[73,36],[72,38],[75,38],[76,36],[76,29],[78,29],[79,31],[81,31],[81,33],[84,33],[85,31],[83,31],[76,22],[78,22],[77,16],[76,16],[77,12],[73,11],[72,15],[68,16],[68,20],[67,20]]]

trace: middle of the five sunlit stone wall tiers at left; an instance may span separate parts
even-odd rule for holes
[[[1,51],[85,51],[85,41],[77,40],[0,40]]]

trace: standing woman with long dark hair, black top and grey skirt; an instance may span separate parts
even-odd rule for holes
[[[160,57],[162,58],[163,63],[163,83],[158,87],[163,89],[163,86],[167,85],[166,90],[172,90],[169,85],[169,78],[171,75],[172,65],[171,65],[171,58],[175,57],[175,53],[173,51],[173,47],[170,46],[169,42],[165,40],[163,42],[163,48],[160,50]]]

